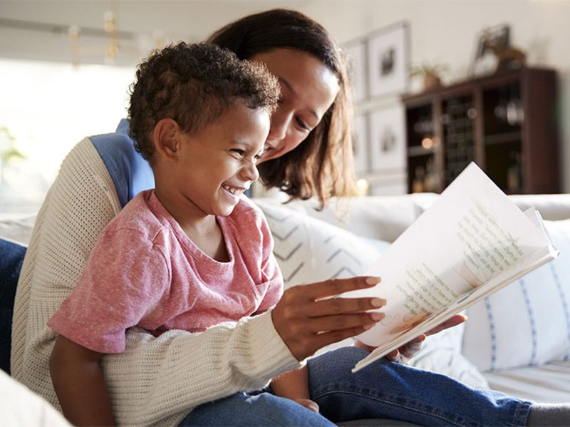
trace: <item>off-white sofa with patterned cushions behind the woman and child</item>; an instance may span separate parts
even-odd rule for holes
[[[568,402],[570,195],[510,197],[522,209],[537,207],[560,256],[467,309],[465,324],[430,336],[410,364],[477,388],[535,401]],[[269,222],[274,254],[288,287],[363,274],[436,198],[431,193],[360,197],[333,200],[323,210],[315,209],[314,200],[284,204],[279,198],[254,198],[254,202]],[[33,215],[0,217],[0,242],[12,251],[25,249],[33,220]],[[18,267],[14,257],[10,268]],[[9,343],[6,334],[14,294],[8,288],[14,276],[0,269],[0,281],[0,339]],[[9,371],[4,341],[2,369]],[[331,347],[350,344],[348,339]]]

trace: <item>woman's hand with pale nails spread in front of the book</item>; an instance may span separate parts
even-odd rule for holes
[[[383,313],[368,310],[383,307],[385,299],[330,297],[379,282],[379,277],[352,277],[291,287],[271,313],[275,329],[298,360],[323,346],[361,334],[384,318]]]

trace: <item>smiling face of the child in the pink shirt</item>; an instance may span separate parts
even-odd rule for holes
[[[269,114],[241,101],[197,135],[185,135],[170,172],[177,197],[198,215],[229,215],[259,178],[255,163],[269,134]],[[196,208],[196,209],[195,209]]]

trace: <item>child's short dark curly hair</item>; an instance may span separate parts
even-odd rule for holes
[[[130,87],[129,133],[136,150],[152,162],[152,132],[172,118],[195,135],[220,118],[237,99],[271,114],[281,92],[277,78],[262,63],[208,43],[178,43],[142,61]]]

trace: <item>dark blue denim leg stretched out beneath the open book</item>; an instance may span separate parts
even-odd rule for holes
[[[356,373],[368,352],[345,347],[309,359],[311,398],[339,423],[390,418],[422,426],[524,426],[530,402],[472,389],[449,376],[381,359]]]

